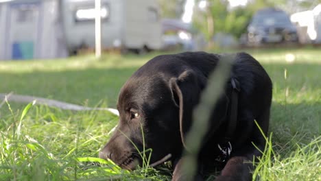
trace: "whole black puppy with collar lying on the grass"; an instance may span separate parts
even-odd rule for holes
[[[145,149],[152,149],[150,162],[171,154],[173,180],[185,180],[181,170],[185,134],[209,74],[221,58],[187,52],[157,56],[143,65],[121,88],[119,125],[99,157],[134,169],[142,164],[139,152],[145,143]],[[209,132],[198,156],[198,171],[216,162],[224,167],[216,180],[251,180],[252,160],[261,155],[254,145],[261,150],[265,146],[254,120],[266,134],[272,82],[257,60],[247,53],[237,53],[224,90],[211,114]]]

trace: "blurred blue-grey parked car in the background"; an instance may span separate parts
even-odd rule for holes
[[[296,26],[283,10],[264,8],[257,11],[248,25],[248,43],[297,42]]]

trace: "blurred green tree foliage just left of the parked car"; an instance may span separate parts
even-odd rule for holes
[[[232,34],[235,38],[239,38],[246,32],[246,27],[257,10],[273,6],[272,0],[256,0],[251,1],[246,7],[240,6],[229,10],[227,0],[208,0],[206,10],[195,10],[193,24],[208,40],[211,40],[217,32]]]

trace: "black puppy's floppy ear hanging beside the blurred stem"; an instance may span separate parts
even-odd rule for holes
[[[174,104],[179,107],[180,136],[184,147],[186,147],[185,134],[191,126],[193,108],[198,104],[204,84],[206,84],[206,78],[198,76],[192,70],[184,71],[178,77],[169,80],[172,99]]]

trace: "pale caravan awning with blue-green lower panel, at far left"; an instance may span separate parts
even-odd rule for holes
[[[0,3],[0,60],[67,56],[56,0]]]

